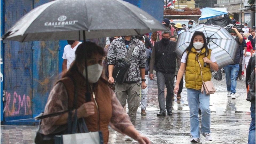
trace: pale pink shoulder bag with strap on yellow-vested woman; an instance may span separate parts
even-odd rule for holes
[[[202,77],[202,81],[203,81],[203,74],[202,74],[203,68],[201,67],[201,64],[200,64],[200,61],[198,58],[197,58],[197,61],[199,63],[200,69],[201,69],[201,77]],[[206,94],[214,94],[216,92],[216,89],[214,88],[212,81],[207,81],[207,82],[203,81],[202,88],[201,88],[202,94],[203,94],[204,90],[205,90]]]

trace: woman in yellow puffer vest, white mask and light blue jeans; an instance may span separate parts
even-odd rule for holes
[[[187,101],[189,103],[190,112],[190,132],[192,135],[190,142],[199,142],[200,138],[198,107],[202,111],[201,134],[206,138],[206,141],[212,141],[212,137],[210,136],[210,95],[205,92],[204,94],[201,93],[201,68],[197,58],[202,66],[203,80],[210,81],[211,69],[217,71],[218,64],[212,51],[207,47],[205,35],[200,31],[195,31],[189,46],[182,55],[181,66],[179,68],[174,93],[177,94],[177,91],[179,90],[179,83],[184,71],[186,70],[185,86],[187,88]],[[204,63],[207,63],[206,67],[203,67]]]

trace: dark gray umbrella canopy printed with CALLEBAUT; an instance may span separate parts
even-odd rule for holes
[[[151,15],[121,0],[56,0],[24,15],[2,39],[83,40],[167,30]],[[85,32],[85,35],[83,35]]]

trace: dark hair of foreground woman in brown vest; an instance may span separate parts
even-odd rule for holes
[[[91,58],[92,55],[95,53],[99,53],[102,55],[102,57],[105,56],[105,52],[102,47],[98,46],[94,42],[84,42],[81,43],[77,50],[75,51],[75,60],[71,63],[70,69],[62,75],[63,77],[68,77],[74,74],[75,71],[78,71],[77,63],[82,63],[85,61],[85,53],[86,53],[86,59]]]

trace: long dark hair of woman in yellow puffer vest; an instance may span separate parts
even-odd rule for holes
[[[182,55],[183,55],[184,53],[186,53],[186,52],[188,51],[188,53],[187,53],[187,58],[188,58],[189,53],[191,52],[191,49],[192,49],[192,47],[193,47],[194,38],[195,38],[195,36],[197,36],[197,35],[201,35],[201,36],[203,37],[203,47],[205,47],[205,50],[206,50],[206,52],[205,52],[205,57],[207,57],[207,56],[209,55],[209,49],[208,49],[208,46],[207,46],[207,41],[206,41],[206,38],[205,38],[205,34],[203,34],[203,32],[201,32],[201,31],[195,31],[195,33],[193,34],[193,36],[192,36],[192,38],[191,38],[191,41],[190,41],[189,46],[188,46],[187,49],[182,53]],[[195,59],[198,57],[198,55],[199,55],[199,53],[197,54],[197,56],[195,57]],[[186,58],[186,63],[187,63],[187,58]]]

